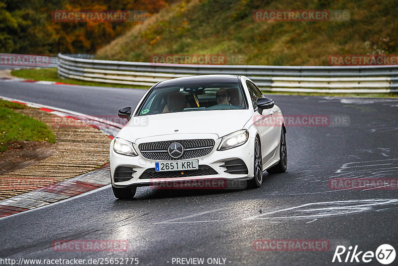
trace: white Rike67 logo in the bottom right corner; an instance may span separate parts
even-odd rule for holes
[[[345,254],[347,251],[347,254]],[[352,246],[348,247],[348,250],[344,246],[337,246],[334,255],[333,255],[333,260],[332,263],[334,262],[345,262],[345,263],[370,263],[372,262],[376,257],[376,260],[384,265],[389,265],[392,262],[394,262],[395,257],[396,257],[396,252],[393,246],[389,244],[383,244],[380,245],[376,253],[373,251],[359,251],[358,246],[355,246],[354,250],[352,250]]]

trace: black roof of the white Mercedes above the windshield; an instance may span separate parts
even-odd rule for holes
[[[188,76],[182,78],[169,79],[165,81],[159,82],[156,87],[165,87],[165,86],[179,86],[181,84],[189,84],[189,83],[219,83],[219,82],[239,82],[237,75],[197,75],[197,76]]]

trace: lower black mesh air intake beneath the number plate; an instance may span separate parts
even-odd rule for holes
[[[141,174],[139,179],[190,177],[190,176],[213,175],[213,174],[217,174],[217,172],[208,165],[199,165],[199,169],[195,170],[167,171],[167,172],[156,172],[155,168],[149,168],[146,169]]]

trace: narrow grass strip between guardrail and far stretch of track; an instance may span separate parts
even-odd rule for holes
[[[149,89],[146,86],[133,86],[133,85],[123,85],[123,84],[111,84],[102,82],[91,82],[76,79],[65,79],[58,76],[56,68],[43,68],[43,69],[21,69],[11,71],[11,75],[14,77],[29,79],[29,80],[44,80],[44,81],[54,81],[67,84],[75,84],[82,86],[98,86],[98,87],[114,87],[114,88],[134,88],[134,89]]]

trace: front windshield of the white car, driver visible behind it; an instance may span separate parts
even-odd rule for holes
[[[246,109],[236,82],[157,87],[139,109],[139,116],[165,113]]]

